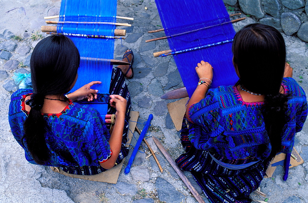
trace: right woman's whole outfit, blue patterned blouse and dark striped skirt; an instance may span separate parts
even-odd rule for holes
[[[306,120],[307,101],[294,79],[284,78],[282,83],[290,99],[281,152],[289,153]],[[250,202],[249,194],[259,187],[271,151],[262,105],[244,102],[235,86],[220,86],[190,108],[194,123],[188,127],[183,122],[181,143],[186,153],[176,163],[192,172],[210,202]]]

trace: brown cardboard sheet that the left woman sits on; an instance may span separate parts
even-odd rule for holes
[[[132,132],[130,130],[128,130],[128,136],[127,136],[128,141],[127,141],[125,146],[129,146],[129,144],[131,143],[132,136],[133,136],[133,133],[135,131],[136,124],[137,124],[136,122],[138,121],[139,112],[131,111],[130,116],[131,116],[131,119],[129,121],[129,129]],[[111,168],[111,169],[109,169],[105,172],[102,172],[102,173],[99,173],[99,174],[96,174],[96,175],[92,175],[92,176],[74,175],[74,174],[66,173],[63,170],[61,170],[60,168],[53,167],[53,166],[51,166],[50,168],[54,172],[61,173],[65,176],[69,176],[69,177],[72,177],[72,178],[80,178],[80,179],[89,180],[89,181],[99,181],[99,182],[107,182],[107,183],[116,184],[116,182],[118,181],[119,175],[120,175],[121,168],[122,168],[123,163],[124,163],[124,159],[119,165],[117,165],[117,166],[115,166],[115,167],[113,167],[113,168]]]

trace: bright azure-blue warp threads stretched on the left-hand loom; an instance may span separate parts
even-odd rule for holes
[[[62,0],[59,22],[63,23],[57,25],[57,32],[65,33],[73,40],[81,58],[113,59],[114,39],[87,38],[83,35],[114,36],[115,25],[81,22],[115,23],[116,6],[116,0]],[[99,90],[101,94],[108,94],[111,74],[110,60],[80,60],[78,79],[72,91],[91,81],[101,81],[102,84],[91,88]],[[107,113],[108,101],[104,95],[87,104],[96,108],[102,116]]]

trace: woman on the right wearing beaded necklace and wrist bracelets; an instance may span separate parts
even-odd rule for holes
[[[213,67],[197,64],[200,81],[181,130],[186,153],[176,160],[214,203],[251,202],[270,160],[278,152],[290,155],[307,116],[305,92],[291,78],[278,30],[247,25],[232,51],[240,78],[234,86],[209,89]]]

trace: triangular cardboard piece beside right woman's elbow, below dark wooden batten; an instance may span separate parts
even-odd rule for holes
[[[186,112],[186,103],[188,99],[188,97],[185,97],[167,104],[169,114],[177,131],[180,131],[182,128],[183,116]]]

